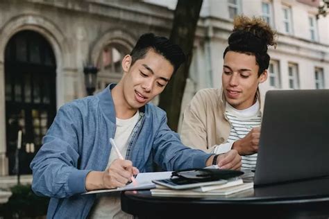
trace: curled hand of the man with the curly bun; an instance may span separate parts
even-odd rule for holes
[[[253,155],[258,152],[260,143],[260,127],[252,128],[242,139],[233,143],[232,149],[237,150],[239,155]]]

